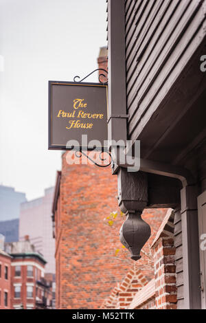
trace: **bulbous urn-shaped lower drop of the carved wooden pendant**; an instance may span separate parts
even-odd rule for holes
[[[127,212],[126,221],[123,223],[119,237],[122,245],[130,252],[133,260],[141,258],[141,248],[144,247],[150,238],[150,225],[141,219],[141,212]]]

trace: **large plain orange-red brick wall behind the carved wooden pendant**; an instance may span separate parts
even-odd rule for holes
[[[124,216],[117,216],[111,226],[104,221],[118,210],[117,177],[111,175],[110,167],[71,166],[66,158],[64,153],[53,210],[56,308],[97,309],[133,265],[119,242],[118,232]],[[165,212],[164,209],[144,211],[143,218],[152,226],[152,238]],[[148,249],[147,246],[145,250]],[[119,253],[115,256],[117,250]],[[146,266],[148,258],[143,255],[139,264]]]

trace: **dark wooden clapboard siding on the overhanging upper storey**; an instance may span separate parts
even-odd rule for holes
[[[168,91],[203,42],[205,3],[192,0],[125,1],[130,139],[139,138],[148,120],[155,118],[157,108],[163,108]],[[165,120],[159,126],[166,129],[168,124]]]

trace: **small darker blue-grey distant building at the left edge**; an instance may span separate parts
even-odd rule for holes
[[[19,240],[19,219],[1,221],[0,234],[5,236],[5,242],[14,242]]]

